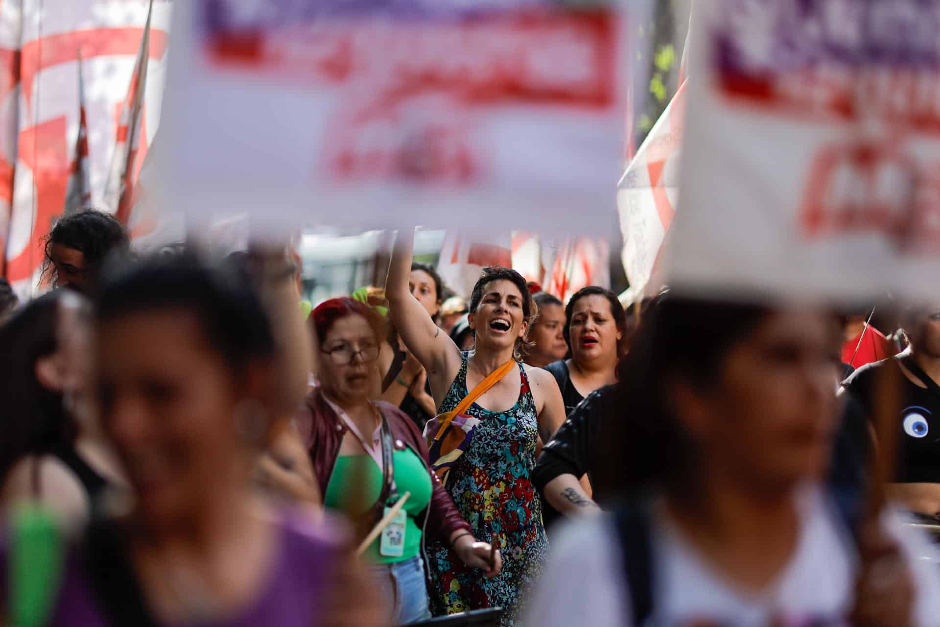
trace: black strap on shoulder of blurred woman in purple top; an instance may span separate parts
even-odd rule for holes
[[[86,560],[95,599],[108,624],[157,627],[118,525],[96,520],[86,530]]]

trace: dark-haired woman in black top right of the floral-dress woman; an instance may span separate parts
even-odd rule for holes
[[[617,382],[626,315],[614,292],[591,286],[572,296],[565,317],[564,335],[572,358],[545,369],[555,376],[565,414],[570,414],[588,394]]]

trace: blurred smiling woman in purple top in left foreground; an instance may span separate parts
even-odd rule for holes
[[[337,533],[249,489],[285,388],[239,279],[185,255],[103,282],[98,400],[135,498],[71,552],[51,624],[374,624]]]

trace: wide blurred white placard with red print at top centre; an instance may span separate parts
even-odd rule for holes
[[[293,227],[407,213],[431,227],[606,229],[630,16],[650,2],[628,6],[181,3],[165,204]]]

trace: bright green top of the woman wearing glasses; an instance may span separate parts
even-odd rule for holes
[[[376,540],[369,545],[364,555],[366,560],[373,564],[402,562],[418,555],[421,550],[421,527],[415,517],[431,502],[431,477],[428,476],[428,469],[421,459],[410,448],[395,451],[394,459],[396,488],[399,494],[411,493],[404,507],[408,514],[405,523],[404,553],[400,557],[381,556],[379,541]],[[353,488],[356,482],[361,482],[365,489]],[[356,493],[359,493],[363,500],[359,503],[350,502],[351,495]],[[356,516],[369,509],[381,493],[382,470],[375,461],[366,454],[344,455],[337,458],[337,465],[333,467],[323,505]]]

